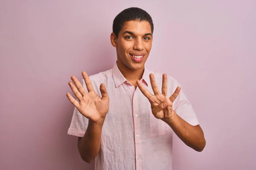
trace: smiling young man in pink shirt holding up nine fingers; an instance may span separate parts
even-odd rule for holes
[[[67,93],[75,106],[68,134],[79,137],[81,158],[95,159],[96,170],[171,170],[173,132],[194,150],[205,147],[178,82],[145,68],[153,29],[146,11],[125,9],[113,21],[114,67],[90,77],[83,71],[81,83],[71,77],[77,100]]]

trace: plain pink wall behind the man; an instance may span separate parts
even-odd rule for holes
[[[255,1],[111,1],[0,1],[0,169],[93,170],[67,135],[67,83],[112,68],[113,18],[137,6],[155,25],[147,67],[180,82],[207,139],[175,137],[173,169],[255,170]]]

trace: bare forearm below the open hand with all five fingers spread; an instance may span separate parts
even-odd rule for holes
[[[87,163],[93,162],[99,153],[103,123],[104,120],[97,124],[89,120],[84,137],[78,142],[78,150],[81,158]]]

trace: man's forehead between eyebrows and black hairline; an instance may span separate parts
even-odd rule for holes
[[[151,26],[148,21],[126,21],[120,33],[131,31],[134,34],[147,34],[151,33]]]

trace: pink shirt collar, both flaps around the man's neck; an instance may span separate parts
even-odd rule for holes
[[[143,72],[142,79],[144,80],[146,86],[148,86],[148,83],[150,83],[149,74],[150,74],[150,71],[144,67],[144,72]],[[113,79],[114,79],[114,83],[116,85],[116,88],[118,88],[119,85],[122,85],[122,83],[127,81],[127,79],[125,79],[125,77],[122,75],[121,71],[117,67],[116,62],[115,62],[114,67],[112,69],[112,75],[113,75]]]

